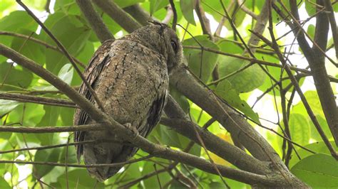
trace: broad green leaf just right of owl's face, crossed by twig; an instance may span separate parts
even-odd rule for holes
[[[206,35],[189,38],[183,41],[183,45],[199,46],[196,41],[198,41],[198,43],[204,47],[219,50],[218,46],[210,41]],[[200,77],[203,82],[207,82],[212,74],[212,70],[215,68],[218,55],[216,53],[190,48],[186,48],[184,50],[184,55],[188,60],[188,66],[190,70],[193,71],[197,77]]]

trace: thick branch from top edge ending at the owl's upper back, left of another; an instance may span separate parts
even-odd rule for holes
[[[91,4],[91,0],[76,0],[76,3],[80,7],[83,15],[87,18],[88,23],[91,25],[91,28],[93,28],[93,31],[96,33],[96,36],[98,36],[101,43],[114,38],[106,24],[103,23],[101,16],[95,11],[93,4]]]

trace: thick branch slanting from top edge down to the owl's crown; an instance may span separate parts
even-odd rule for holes
[[[114,1],[107,0],[93,0],[94,3],[99,6],[105,13],[113,18],[118,25],[122,26],[123,29],[132,33],[136,29],[142,27],[140,23],[135,21],[126,11],[123,11]]]

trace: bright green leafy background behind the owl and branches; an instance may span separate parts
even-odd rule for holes
[[[158,20],[163,20],[167,14],[165,6],[168,5],[168,1],[144,1],[144,0],[129,0],[129,1],[115,1],[118,6],[124,8],[136,3],[140,3],[140,6],[148,11],[153,17]],[[178,26],[178,36],[183,41],[183,45],[198,46],[196,40],[205,47],[220,50],[221,52],[242,55],[245,53],[243,45],[241,45],[238,38],[234,37],[234,31],[228,21],[223,24],[223,31],[220,33],[220,38],[211,41],[208,35],[203,35],[203,30],[200,26],[197,16],[193,14],[192,1],[175,1],[175,8],[178,14],[178,23],[187,28],[190,34],[185,33],[185,30]],[[220,13],[222,12],[222,6],[219,1],[204,1],[202,4],[203,9],[208,15],[211,21],[212,30],[215,30],[215,26],[222,19]],[[58,38],[59,41],[66,47],[68,52],[78,59],[81,63],[88,63],[88,60],[93,55],[94,51],[101,44],[96,34],[93,33],[91,27],[86,21],[86,18],[82,15],[78,5],[72,0],[57,0],[55,4],[52,4],[50,13],[46,11],[46,1],[34,1],[27,0],[24,3],[33,9],[34,12],[39,15],[39,18],[44,21],[47,28]],[[225,1],[225,5],[229,6],[230,1]],[[260,10],[263,6],[263,1],[247,0],[244,5],[247,9],[252,10],[255,14],[260,14]],[[315,9],[312,1],[299,1],[299,10],[307,13],[309,16],[314,15]],[[115,21],[113,21],[106,13],[103,13],[101,9],[97,8],[98,13],[103,18],[104,23],[108,26],[109,30],[116,38],[127,34],[126,31],[121,28]],[[239,31],[242,38],[248,41],[251,37],[251,33],[248,29],[252,29],[252,17],[249,16],[242,9],[230,9],[233,18],[235,18],[235,26]],[[334,4],[334,11],[338,11],[337,4]],[[282,36],[284,33],[290,30],[285,23],[280,22],[277,14],[273,14],[273,20],[277,25],[275,32],[278,36]],[[303,16],[302,18],[308,18]],[[314,18],[313,18],[314,19]],[[188,24],[189,23],[189,24]],[[314,36],[314,21],[311,19],[309,23],[304,25],[304,29],[309,36]],[[188,26],[188,27],[187,27]],[[278,31],[280,28],[280,31]],[[81,84],[81,79],[74,72],[67,58],[61,53],[51,48],[46,48],[44,45],[39,45],[32,41],[27,41],[24,38],[17,38],[14,36],[4,35],[4,31],[13,33],[21,33],[33,38],[37,38],[50,45],[55,45],[51,38],[46,33],[41,31],[38,24],[16,4],[15,1],[1,0],[0,2],[0,43],[7,45],[19,53],[25,55],[31,60],[40,63],[43,68],[58,75],[63,81],[69,85],[78,86]],[[192,38],[192,36],[194,38]],[[263,33],[264,36],[269,38],[268,31]],[[290,60],[299,68],[306,68],[307,62],[304,59],[304,55],[298,49],[298,45],[294,44],[290,47],[290,42],[295,38],[292,34],[288,36],[282,36],[279,44],[282,46],[282,51],[288,52],[290,50]],[[291,40],[290,40],[291,39]],[[267,60],[276,64],[280,63],[280,60],[272,52],[270,48],[265,48],[260,45],[255,53],[255,56],[259,60]],[[329,35],[329,43],[327,46],[330,50],[327,51],[327,55],[334,58],[334,49],[332,48],[333,39],[332,33]],[[218,78],[225,77],[237,70],[240,70],[250,62],[239,58],[232,58],[225,55],[219,55],[204,51],[203,55],[201,50],[185,48],[185,57],[188,60],[188,67],[200,77],[200,80],[208,83],[212,82],[215,78],[212,77],[213,72],[217,70]],[[202,58],[201,58],[202,57]],[[216,67],[217,65],[217,67]],[[327,70],[329,75],[337,78],[338,69],[331,63],[327,63]],[[202,67],[202,68],[201,68]],[[286,77],[286,73],[281,68],[269,67],[267,70],[270,72],[275,80],[280,80],[280,77]],[[297,75],[296,72],[294,72]],[[1,92],[16,92],[28,95],[41,95],[38,91],[48,91],[42,94],[43,97],[53,97],[58,99],[66,99],[66,96],[57,93],[56,88],[48,84],[48,82],[40,79],[36,75],[32,74],[29,70],[16,66],[16,64],[7,60],[4,56],[0,56],[0,90]],[[319,123],[324,129],[325,134],[330,141],[333,142],[332,134],[329,132],[327,121],[324,118],[322,107],[320,106],[317,92],[315,91],[313,80],[309,77],[300,79],[299,84],[302,85],[302,90],[307,101],[309,102],[312,110],[319,119]],[[290,80],[282,82],[285,87],[290,85]],[[282,134],[280,126],[282,124],[282,107],[281,107],[281,95],[277,88],[269,90],[272,86],[272,80],[267,76],[265,72],[256,65],[250,66],[242,72],[236,72],[231,77],[222,80],[215,85],[210,85],[210,88],[214,90],[217,95],[225,99],[232,107],[239,109],[250,119],[260,122],[262,125]],[[337,82],[332,82],[332,88],[334,94],[337,95]],[[293,87],[285,94],[286,99],[290,99],[293,93]],[[266,95],[262,96],[262,99],[257,99],[265,92]],[[203,126],[211,117],[207,113],[203,112],[193,102],[190,102],[187,98],[180,94],[175,89],[171,89],[171,95],[180,103],[181,107],[189,112],[191,119]],[[256,104],[257,101],[257,104]],[[295,151],[299,153],[297,158],[295,151],[292,151],[292,158],[290,159],[289,168],[298,178],[303,180],[312,187],[333,187],[338,186],[338,164],[334,161],[325,147],[319,134],[317,134],[311,119],[309,119],[306,110],[302,102],[299,102],[299,97],[295,95],[293,102],[290,102],[290,133],[292,141],[295,141],[301,146],[315,151],[316,154],[304,151],[304,149],[295,147]],[[253,106],[255,104],[255,106]],[[252,108],[253,106],[253,108]],[[71,126],[73,119],[73,108],[68,107],[55,107],[50,105],[16,102],[5,99],[0,99],[0,116],[2,125],[6,126]],[[252,123],[252,122],[251,122]],[[269,143],[275,148],[280,156],[283,156],[282,147],[283,139],[277,136],[275,133],[263,129],[252,123],[252,125],[260,131],[260,134],[269,141]],[[280,126],[278,126],[280,125]],[[230,134],[223,129],[220,124],[215,121],[208,128],[213,134],[220,136],[226,141],[231,141]],[[15,148],[37,147],[37,146],[50,146],[54,144],[66,144],[68,139],[71,139],[71,133],[55,133],[55,134],[23,134],[23,133],[10,133],[1,132],[0,134],[0,150],[8,151]],[[175,149],[184,149],[190,143],[190,140],[169,129],[166,126],[158,125],[152,134],[148,137],[150,141],[166,146],[171,146]],[[336,148],[337,150],[337,148]],[[68,158],[66,154],[68,153]],[[201,156],[203,158],[209,158],[205,150],[200,146],[193,146],[190,153],[195,156]],[[139,151],[136,157],[146,156],[147,153]],[[22,160],[22,161],[41,161],[41,162],[58,162],[64,163],[76,163],[76,156],[73,146],[51,148],[39,151],[16,151],[13,153],[1,153],[1,160]],[[211,154],[211,157],[215,163],[220,163],[226,166],[232,166],[227,161],[222,160]],[[323,163],[325,162],[325,163]],[[147,161],[140,161],[133,163],[130,166],[126,166],[124,171],[121,171],[118,175],[110,178],[105,183],[97,183],[96,180],[90,178],[86,169],[84,168],[64,168],[57,166],[37,166],[37,165],[19,165],[14,163],[0,163],[0,188],[25,188],[25,187],[116,187],[126,183],[131,183],[143,175],[153,173],[161,168],[167,167],[170,163],[168,160],[161,158],[151,158]],[[156,165],[156,166],[154,166]],[[205,173],[197,168],[190,166],[184,166],[178,164],[178,166],[170,171],[164,171],[153,175],[150,178],[142,180],[142,182],[136,183],[133,187],[144,188],[158,188],[159,182],[165,185],[166,183],[170,188],[185,187],[180,182],[178,173],[184,175],[184,177],[193,180],[194,183],[198,183],[200,188],[220,188],[224,187],[220,177],[218,175],[212,175]],[[158,177],[157,177],[158,176]],[[173,179],[173,176],[178,179]],[[67,181],[68,180],[68,181]],[[173,180],[173,181],[171,181]],[[248,188],[249,185],[240,183],[235,180],[226,179],[228,185],[232,188]]]

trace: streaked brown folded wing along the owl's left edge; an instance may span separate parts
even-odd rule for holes
[[[96,50],[96,53],[93,55],[93,58],[89,61],[89,65],[84,71],[83,75],[88,81],[88,84],[91,85],[91,87],[95,86],[96,80],[98,79],[98,76],[101,74],[104,65],[109,63],[110,56],[108,55],[108,52],[111,47],[111,43],[113,43],[113,40],[105,41],[98,50]],[[80,90],[78,91],[81,95],[86,97],[86,99],[89,99],[93,104],[95,104],[94,100],[91,97],[91,92],[87,89],[86,85],[83,83],[80,87]],[[74,114],[73,123],[74,125],[82,125],[87,124],[89,121],[89,115],[84,112],[82,109],[76,109],[76,112]],[[74,134],[74,141],[83,141],[84,135],[86,132],[83,131],[76,131]],[[77,156],[78,161],[80,161],[81,154],[83,153],[83,145],[77,146]]]

